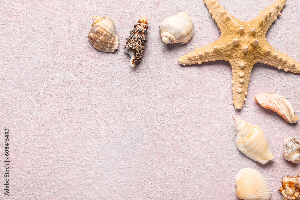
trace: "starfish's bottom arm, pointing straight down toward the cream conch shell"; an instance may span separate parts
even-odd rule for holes
[[[242,109],[244,106],[244,101],[247,96],[247,88],[251,76],[251,71],[254,61],[243,62],[239,60],[229,61],[232,68],[232,92],[233,92],[233,104],[235,109]]]

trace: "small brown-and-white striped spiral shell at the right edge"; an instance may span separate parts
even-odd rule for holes
[[[300,161],[300,141],[292,137],[284,139],[283,156],[288,161],[298,163]]]

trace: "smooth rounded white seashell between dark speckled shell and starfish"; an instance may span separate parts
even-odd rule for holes
[[[194,22],[186,12],[181,12],[165,19],[158,32],[165,44],[185,44],[193,37]]]

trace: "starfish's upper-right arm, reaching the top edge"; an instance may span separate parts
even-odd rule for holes
[[[281,10],[286,4],[286,0],[276,0],[273,4],[265,7],[265,10],[260,10],[260,14],[250,22],[256,22],[259,29],[258,33],[265,36],[273,22],[281,15]]]

